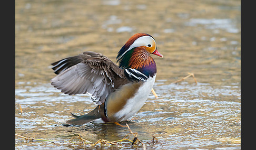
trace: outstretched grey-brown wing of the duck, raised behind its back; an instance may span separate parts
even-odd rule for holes
[[[124,71],[101,53],[85,51],[52,65],[55,73],[60,73],[51,80],[55,88],[69,95],[89,93],[97,104],[127,82]]]

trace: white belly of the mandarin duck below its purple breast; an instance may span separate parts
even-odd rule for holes
[[[137,111],[142,108],[153,88],[155,76],[153,78],[150,77],[145,83],[143,83],[143,85],[135,93],[134,97],[129,99],[123,109],[114,115],[117,119],[120,119],[118,121],[124,121],[129,119],[129,117],[133,116]]]

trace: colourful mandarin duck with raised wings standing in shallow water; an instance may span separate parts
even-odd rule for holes
[[[53,87],[61,92],[89,94],[97,104],[91,112],[68,120],[68,124],[121,122],[144,105],[156,76],[156,63],[150,56],[163,57],[155,39],[144,33],[133,35],[117,53],[117,66],[106,56],[85,51],[78,56],[51,63],[56,77]]]

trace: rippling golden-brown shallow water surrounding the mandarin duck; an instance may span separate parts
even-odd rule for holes
[[[241,149],[240,1],[16,1],[15,133],[53,140],[16,149],[143,149],[67,142],[121,140],[129,130],[113,124],[64,126],[71,112],[96,105],[88,95],[65,95],[50,84],[50,63],[86,50],[115,61],[133,34],[149,33],[163,58],[154,90],[129,124],[147,149]],[[193,78],[172,82],[194,73]],[[19,109],[21,105],[23,112]],[[152,135],[159,141],[153,143]]]

